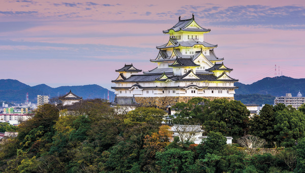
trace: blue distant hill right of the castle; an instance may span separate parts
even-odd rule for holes
[[[236,94],[270,94],[273,96],[285,96],[291,93],[296,96],[300,91],[305,95],[305,79],[294,79],[286,76],[264,78],[249,85],[239,82],[234,84],[239,89],[235,90]]]

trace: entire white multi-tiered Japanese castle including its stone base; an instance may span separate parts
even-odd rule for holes
[[[150,62],[157,67],[139,74],[142,70],[125,64],[116,70],[115,103],[164,108],[178,101],[187,102],[193,97],[207,99],[234,99],[234,82],[229,77],[232,68],[224,65],[224,58],[214,52],[217,45],[204,42],[203,34],[210,32],[197,24],[194,15],[181,20],[163,33],[169,34],[166,44],[157,46],[157,58]]]

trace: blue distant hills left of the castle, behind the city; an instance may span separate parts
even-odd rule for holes
[[[56,97],[58,95],[65,95],[70,90],[76,95],[86,98],[107,98],[108,89],[99,85],[83,85],[83,86],[60,86],[57,88],[49,87],[45,84],[36,86],[29,86],[18,80],[2,79],[0,80],[0,100],[8,102],[25,102],[25,94],[28,93],[29,101],[36,103],[37,95],[49,95]],[[109,91],[109,99],[113,100],[114,92]]]

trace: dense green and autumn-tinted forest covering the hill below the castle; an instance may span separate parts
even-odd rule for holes
[[[127,113],[100,99],[70,109],[45,104],[17,128],[1,126],[19,134],[2,141],[0,171],[305,172],[305,106],[265,105],[251,118],[236,100],[193,98],[174,108],[173,124],[200,124],[207,139],[172,139],[161,125],[166,112],[156,108]]]

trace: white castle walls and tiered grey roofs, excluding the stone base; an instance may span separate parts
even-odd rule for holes
[[[166,93],[164,92],[165,89],[178,89],[179,92],[172,93],[179,95],[179,93],[188,93],[188,88],[195,87],[198,91],[202,91],[202,94],[207,93],[203,89],[225,88],[227,94],[231,94],[232,97],[234,89],[237,88],[234,87],[233,83],[238,80],[228,76],[232,68],[224,65],[222,62],[224,58],[216,56],[214,49],[218,45],[204,41],[203,34],[208,32],[210,32],[210,29],[201,27],[195,21],[194,15],[192,18],[185,20],[181,20],[179,17],[178,23],[170,29],[163,30],[163,33],[169,34],[169,40],[166,44],[157,46],[156,48],[159,50],[157,57],[150,59],[151,62],[158,64],[156,68],[143,72],[141,75],[137,74],[141,70],[138,70],[132,64],[125,64],[123,68],[116,70],[116,72],[119,72],[119,76],[112,81],[116,83],[116,86],[112,88],[116,90],[117,96],[120,94],[126,96],[129,93],[134,95],[132,93],[133,88],[141,90],[162,89],[161,95],[160,91],[153,93],[159,94],[158,96],[166,96],[162,95],[162,93]],[[164,82],[164,85],[162,85],[162,82]],[[224,87],[218,86],[218,82],[222,82]],[[151,85],[151,83],[154,84]],[[201,83],[211,83],[211,85],[202,85]],[[227,83],[229,84],[226,85]],[[147,84],[149,85],[147,86]],[[181,89],[185,92],[183,93]],[[145,95],[145,92],[141,93],[137,94]],[[147,91],[147,93],[149,92]],[[192,90],[191,93],[197,92]],[[214,92],[211,91],[210,93]],[[222,92],[219,91],[218,93],[221,94]]]

